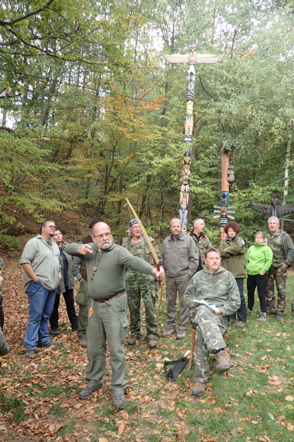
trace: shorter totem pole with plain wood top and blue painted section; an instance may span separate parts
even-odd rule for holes
[[[223,142],[221,145],[221,206],[213,206],[214,213],[220,213],[220,215],[214,216],[214,218],[221,218],[221,239],[226,239],[224,227],[228,222],[228,218],[234,220],[234,217],[228,215],[228,213],[235,213],[235,211],[228,210],[233,209],[234,206],[229,206],[229,185],[235,181],[234,166],[229,166],[229,149],[226,148],[226,144]]]

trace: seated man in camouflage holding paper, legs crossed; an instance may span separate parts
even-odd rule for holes
[[[209,377],[209,352],[217,356],[219,373],[229,370],[233,362],[225,352],[223,335],[227,330],[230,315],[240,306],[238,286],[231,272],[221,267],[221,253],[208,249],[204,253],[205,266],[192,278],[184,295],[190,308],[192,325],[196,327],[195,384],[193,396],[200,396],[207,387]],[[194,307],[194,300],[215,304],[215,311],[205,305]],[[191,356],[193,357],[193,356]]]

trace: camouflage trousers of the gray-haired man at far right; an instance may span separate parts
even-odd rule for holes
[[[268,274],[268,283],[266,287],[267,313],[281,313],[286,311],[286,279],[287,269],[284,264],[279,267],[271,266]],[[275,308],[274,282],[278,292],[278,304]]]

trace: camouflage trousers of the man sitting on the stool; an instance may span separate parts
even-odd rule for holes
[[[209,352],[216,353],[226,347],[222,336],[227,331],[229,317],[215,315],[210,308],[199,306],[196,308],[194,324],[196,327],[194,379],[203,384],[209,378]]]

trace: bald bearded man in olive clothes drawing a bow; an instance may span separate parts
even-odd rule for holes
[[[106,366],[106,340],[108,342],[112,380],[109,385],[114,399],[113,406],[125,406],[124,341],[127,330],[127,294],[125,293],[125,266],[140,272],[163,278],[164,271],[140,259],[114,243],[109,226],[98,222],[92,230],[94,243],[70,244],[65,251],[85,260],[88,275],[90,301],[88,303],[87,386],[80,392],[80,399],[88,399],[96,388],[103,387]]]

